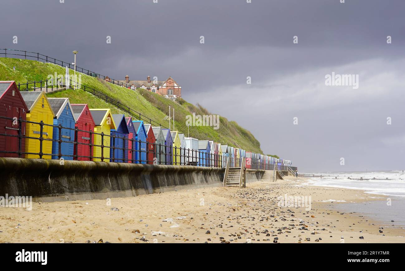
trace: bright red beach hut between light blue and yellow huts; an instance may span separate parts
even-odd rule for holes
[[[86,103],[72,103],[70,106],[72,107],[73,114],[76,118],[75,127],[77,127],[79,130],[94,132],[95,123],[88,105]],[[94,144],[94,134],[92,133],[90,135],[90,132],[78,131],[75,141],[83,144]],[[77,155],[89,157],[77,157],[77,160],[90,161],[90,156],[93,156],[93,146],[90,148],[89,145],[83,144],[77,145]],[[73,150],[73,155],[76,155],[76,148]]]

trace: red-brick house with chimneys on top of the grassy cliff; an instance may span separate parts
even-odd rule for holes
[[[144,88],[153,93],[158,93],[166,98],[175,100],[181,97],[181,86],[177,84],[171,76],[166,81],[151,81],[151,77],[146,77],[146,80],[129,80],[129,76],[125,76],[125,80],[119,82],[128,84],[133,90],[136,88]]]

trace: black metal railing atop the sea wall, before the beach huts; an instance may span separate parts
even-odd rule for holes
[[[33,131],[38,136],[32,136],[32,133],[26,135],[27,125],[30,125],[29,131]],[[2,127],[5,127],[5,129]],[[51,127],[52,135],[55,132],[55,135],[58,135],[57,138],[54,135],[50,138],[47,132],[49,130],[46,127]],[[34,129],[39,131],[35,133]],[[69,133],[70,135],[74,133],[74,137],[66,135]],[[81,140],[83,138],[88,141],[83,142]],[[44,123],[42,120],[39,123],[23,120],[21,117],[8,118],[0,116],[0,140],[6,146],[9,146],[8,150],[0,149],[0,157],[111,161],[217,168],[224,168],[226,159],[230,159],[231,167],[240,167],[242,162],[240,157],[228,157],[217,153],[207,153],[207,151],[203,150],[172,146],[171,143],[167,142],[162,144],[163,142],[141,141],[128,138],[127,135],[119,136],[114,132],[111,134],[97,133],[81,130],[77,127],[51,125]],[[23,142],[25,142],[25,146],[23,146]],[[49,142],[48,145],[45,142]],[[32,148],[33,145],[34,148]],[[67,145],[72,146],[72,148],[66,148]],[[87,153],[83,149],[79,151],[80,146],[87,146]],[[96,148],[99,149],[95,151]],[[52,150],[50,153],[47,152],[49,149]],[[69,149],[69,151],[64,152],[65,149]],[[38,152],[32,150],[38,150]],[[106,155],[107,153],[109,155]],[[273,165],[253,160],[248,168],[270,170],[271,166]]]

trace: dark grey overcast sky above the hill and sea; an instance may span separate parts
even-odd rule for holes
[[[71,62],[78,50],[80,67],[119,80],[171,75],[185,100],[236,120],[301,172],[405,169],[404,0],[13,0],[1,9],[0,47]],[[358,88],[326,86],[332,72],[358,75]]]

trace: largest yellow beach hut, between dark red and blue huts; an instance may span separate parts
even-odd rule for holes
[[[55,113],[53,112],[51,106],[49,105],[47,96],[44,91],[21,91],[21,96],[23,97],[27,108],[27,120],[39,123],[41,120],[44,124],[53,125],[53,117]],[[40,125],[34,123],[26,124],[26,136],[32,138],[26,138],[25,152],[26,153],[39,153],[40,152]],[[42,130],[43,138],[52,140],[53,127],[43,126]],[[34,139],[38,138],[38,139]],[[42,153],[48,155],[43,155],[43,159],[51,159],[52,154],[52,141],[43,140],[42,141]],[[26,154],[25,158],[40,158],[37,154]]]

